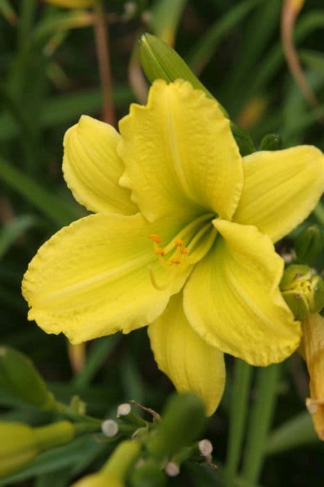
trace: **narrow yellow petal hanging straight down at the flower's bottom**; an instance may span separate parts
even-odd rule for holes
[[[149,340],[159,369],[179,392],[195,392],[212,415],[224,390],[224,356],[191,328],[182,299],[182,293],[172,296],[165,312],[149,325]]]

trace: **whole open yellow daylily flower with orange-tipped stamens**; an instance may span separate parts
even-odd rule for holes
[[[321,197],[320,150],[242,158],[218,104],[181,80],[155,81],[120,134],[82,116],[64,145],[67,185],[96,214],[31,261],[29,319],[73,343],[149,325],[159,368],[207,414],[222,395],[224,352],[268,365],[298,347],[273,244]]]

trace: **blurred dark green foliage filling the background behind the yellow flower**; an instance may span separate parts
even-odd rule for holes
[[[117,118],[127,113],[130,102],[143,97],[145,82],[134,49],[138,35],[150,31],[175,42],[179,54],[236,124],[250,131],[256,145],[265,134],[276,132],[284,147],[311,143],[323,150],[323,122],[305,102],[284,61],[281,9],[282,0],[107,2]],[[85,366],[73,372],[70,359],[72,355],[76,360],[76,349],[71,351],[64,337],[45,335],[26,321],[20,282],[29,260],[58,228],[85,214],[63,182],[63,134],[81,113],[100,118],[102,95],[93,29],[83,26],[90,24],[88,14],[36,0],[0,0],[0,11],[1,342],[32,358],[58,399],[67,402],[79,394],[91,415],[114,415],[115,407],[128,399],[160,411],[172,386],[156,368],[145,330],[91,342]],[[306,1],[296,23],[295,44],[309,86],[322,104],[323,29],[323,2]],[[323,223],[323,216],[318,209],[311,218]],[[227,390],[206,431],[218,465],[225,461],[228,418],[241,407],[240,391],[232,387],[232,365],[229,360]],[[273,431],[263,435],[255,417],[258,410],[252,408],[250,435],[259,438],[265,458],[259,485],[323,485],[324,447],[305,412],[304,364],[295,355],[276,372],[274,404],[268,404],[266,390],[258,385],[261,374],[247,377],[243,372],[242,377],[251,380],[252,404],[257,399],[259,407],[268,407],[269,417],[273,415]],[[40,425],[48,420],[45,413],[1,391],[0,412],[1,421]],[[67,486],[81,472],[99,468],[107,451],[91,436],[83,437],[40,457],[0,486]],[[220,474],[190,465],[170,479],[171,485],[217,486]],[[238,479],[237,485],[251,484]]]

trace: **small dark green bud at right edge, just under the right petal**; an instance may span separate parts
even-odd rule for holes
[[[317,225],[311,225],[295,239],[295,253],[300,262],[312,262],[323,250],[323,233]]]

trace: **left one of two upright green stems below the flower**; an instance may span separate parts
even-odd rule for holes
[[[251,378],[252,367],[246,362],[243,362],[243,360],[236,359],[231,408],[229,412],[227,458],[224,470],[225,485],[227,487],[234,485],[240,459]]]

